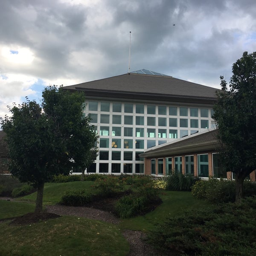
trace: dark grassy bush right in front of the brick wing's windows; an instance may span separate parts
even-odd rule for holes
[[[167,177],[166,190],[171,191],[191,191],[192,186],[196,181],[200,180],[199,177],[192,175],[183,175],[182,173],[173,172]]]

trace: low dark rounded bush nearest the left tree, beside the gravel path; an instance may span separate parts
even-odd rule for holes
[[[93,195],[84,189],[67,191],[61,198],[61,204],[67,206],[84,206],[91,201],[93,201]]]

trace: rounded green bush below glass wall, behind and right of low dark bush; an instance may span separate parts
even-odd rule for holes
[[[115,176],[106,176],[103,180],[96,180],[95,187],[99,189],[102,197],[111,197],[123,191],[123,183]]]

